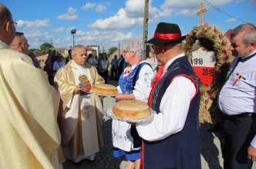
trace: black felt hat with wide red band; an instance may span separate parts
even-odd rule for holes
[[[173,41],[183,41],[187,35],[181,36],[180,27],[176,24],[160,22],[148,44],[165,44]]]

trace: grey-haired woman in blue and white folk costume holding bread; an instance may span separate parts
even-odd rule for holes
[[[143,45],[140,40],[133,39],[123,45],[123,58],[130,65],[124,69],[120,75],[119,94],[116,100],[139,99],[147,101],[150,94],[150,84],[153,79],[153,71],[147,61],[142,61]],[[136,132],[135,126],[125,121],[113,120],[113,156],[120,157],[125,155],[129,161],[127,168],[140,167],[140,147],[141,138]]]

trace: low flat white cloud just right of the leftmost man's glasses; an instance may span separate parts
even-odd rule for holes
[[[42,27],[49,27],[49,18],[46,18],[44,20],[35,20],[35,21],[18,21],[18,28],[42,28]]]

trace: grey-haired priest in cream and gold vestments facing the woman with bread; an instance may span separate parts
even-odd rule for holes
[[[87,79],[89,86],[104,83],[96,68],[86,63],[86,48],[76,45],[72,48],[72,60],[57,71],[54,79],[62,100],[59,117],[62,147],[66,158],[75,163],[84,158],[93,161],[103,146],[100,124],[103,105],[96,94],[83,93],[84,86],[79,85],[81,77]]]

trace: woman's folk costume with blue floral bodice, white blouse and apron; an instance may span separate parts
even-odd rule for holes
[[[150,84],[153,71],[146,61],[128,66],[120,76],[118,91],[123,94],[135,95],[136,99],[147,101],[150,94]],[[126,160],[135,161],[140,159],[141,138],[136,128],[125,121],[112,122],[113,156],[125,155]]]

